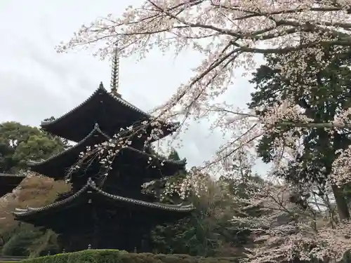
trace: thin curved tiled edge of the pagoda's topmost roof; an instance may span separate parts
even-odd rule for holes
[[[133,104],[127,102],[126,100],[122,99],[121,97],[118,97],[117,95],[113,95],[112,93],[108,92],[104,86],[102,86],[102,83],[100,83],[100,86],[97,90],[94,91],[94,93],[88,97],[84,102],[81,102],[81,104],[79,104],[77,107],[74,107],[73,109],[71,109],[69,112],[63,114],[62,116],[60,116],[58,119],[53,119],[52,121],[42,121],[41,122],[41,127],[42,128],[46,128],[48,126],[52,126],[55,123],[58,123],[60,121],[62,121],[62,119],[65,119],[68,115],[73,114],[75,111],[77,111],[77,109],[79,109],[80,107],[82,107],[84,104],[88,104],[89,102],[91,102],[91,100],[93,100],[93,98],[99,94],[99,92],[103,92],[106,95],[112,97],[116,102],[118,102],[119,104],[122,104],[124,107],[127,107],[129,109],[132,109],[135,112],[138,112],[139,114],[142,114],[143,116],[145,116],[145,118],[150,119],[150,114],[147,114],[146,112],[143,112],[143,110],[139,109],[138,107],[135,107]]]

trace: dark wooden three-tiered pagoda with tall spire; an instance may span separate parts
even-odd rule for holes
[[[100,83],[78,107],[58,119],[41,123],[46,132],[75,144],[44,161],[29,163],[31,170],[55,180],[65,179],[87,147],[112,140],[121,128],[152,119],[117,93],[118,79],[116,49],[110,91]],[[164,123],[162,136],[169,135],[176,127],[176,123]],[[71,191],[40,208],[17,208],[13,212],[15,219],[52,229],[67,252],[88,247],[151,252],[153,227],[181,219],[194,210],[191,204],[157,203],[153,196],[141,191],[145,182],[172,176],[186,164],[185,159],[171,161],[152,155],[147,150],[150,148],[145,148],[151,132],[151,127],[146,128],[143,136],[133,137],[131,144],[119,151],[107,177],[101,176],[100,162],[92,161],[70,173]]]

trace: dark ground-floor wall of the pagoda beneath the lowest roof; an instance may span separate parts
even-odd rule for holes
[[[107,213],[105,209],[95,208],[89,216],[80,213],[80,226],[61,231],[60,247],[67,252],[85,250],[88,245],[94,249],[151,252],[152,224],[151,220],[145,220],[145,213],[119,210],[117,214],[116,211]]]

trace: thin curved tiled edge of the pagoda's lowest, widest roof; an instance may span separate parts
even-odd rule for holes
[[[132,198],[126,198],[124,196],[115,196],[113,194],[108,194],[107,192],[102,191],[101,189],[96,187],[95,183],[91,179],[89,179],[88,182],[86,183],[86,185],[84,185],[84,187],[82,187],[79,191],[77,191],[76,194],[69,196],[66,199],[63,199],[62,201],[51,203],[50,205],[45,205],[41,208],[26,208],[26,209],[17,208],[13,212],[13,215],[15,215],[15,217],[18,217],[18,218],[27,217],[27,216],[33,215],[35,213],[41,213],[41,212],[44,212],[47,210],[51,210],[52,208],[60,208],[60,207],[63,207],[65,205],[69,205],[69,203],[72,203],[74,200],[79,198],[79,196],[82,196],[87,191],[95,191],[97,194],[105,196],[105,198],[108,198],[112,201],[117,201],[117,202],[121,202],[121,203],[129,203],[129,204],[144,206],[147,208],[153,208],[153,209],[157,209],[157,210],[168,210],[168,211],[174,211],[174,212],[179,212],[179,213],[187,213],[187,212],[192,212],[192,210],[194,210],[194,206],[192,204],[190,204],[190,205],[182,205],[182,204],[166,205],[163,203],[151,203],[151,202],[147,202],[147,201],[140,201],[140,200],[136,200],[136,199],[132,199]]]

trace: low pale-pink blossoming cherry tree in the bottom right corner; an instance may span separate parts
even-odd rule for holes
[[[243,262],[335,262],[350,250],[350,222],[333,221],[329,210],[321,209],[330,203],[296,205],[287,184],[250,181],[246,187],[255,191],[248,198],[233,196],[241,216],[232,220],[253,233],[255,245]],[[246,215],[252,208],[261,210],[258,217]]]

